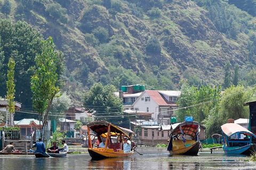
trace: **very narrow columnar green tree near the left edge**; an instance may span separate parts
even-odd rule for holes
[[[15,111],[15,102],[14,102],[14,94],[15,94],[15,84],[14,84],[14,68],[15,61],[13,58],[10,58],[8,62],[8,71],[7,71],[7,100],[8,100],[8,111],[10,113],[10,126],[14,125],[13,114]]]

